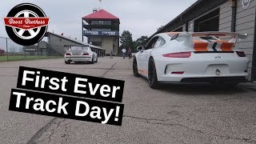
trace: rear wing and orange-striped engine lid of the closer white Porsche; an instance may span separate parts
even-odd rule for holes
[[[170,40],[177,40],[183,42],[186,49],[194,48],[193,51],[234,51],[234,44],[238,39],[247,38],[247,34],[238,34],[230,32],[170,32]]]

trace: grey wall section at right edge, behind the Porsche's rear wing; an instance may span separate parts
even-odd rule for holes
[[[238,0],[236,32],[248,34],[248,38],[237,42],[236,47],[242,49],[250,59],[248,73],[251,74],[253,48],[254,48],[254,24],[255,24],[256,2],[251,1],[248,9],[242,9],[242,1]]]

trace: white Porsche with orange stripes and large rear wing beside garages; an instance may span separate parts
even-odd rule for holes
[[[237,84],[248,79],[249,59],[235,42],[247,35],[228,32],[169,32],[156,34],[146,47],[138,46],[134,76],[158,83],[210,82]]]

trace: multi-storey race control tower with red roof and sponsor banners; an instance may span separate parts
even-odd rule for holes
[[[118,54],[119,18],[106,10],[94,9],[92,14],[82,18],[82,41],[86,36],[88,43],[106,49],[106,54],[113,50]]]

